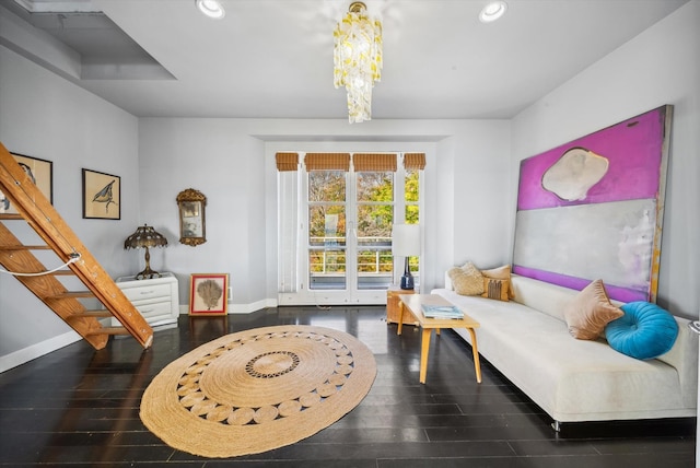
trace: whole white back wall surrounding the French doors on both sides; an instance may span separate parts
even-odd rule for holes
[[[183,304],[190,273],[226,272],[230,312],[275,305],[277,151],[425,152],[424,290],[456,262],[503,264],[513,199],[500,183],[509,178],[509,128],[497,120],[141,119],[141,219],[171,241],[152,266],[177,276]],[[208,198],[208,241],[197,247],[177,242],[175,197],[189,187]]]

